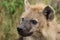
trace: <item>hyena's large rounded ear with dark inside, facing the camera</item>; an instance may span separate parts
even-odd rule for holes
[[[43,14],[47,20],[54,19],[54,9],[51,6],[46,6],[43,10]]]

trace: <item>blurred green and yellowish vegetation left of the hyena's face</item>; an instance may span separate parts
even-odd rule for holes
[[[17,24],[24,11],[23,0],[0,0],[0,40],[17,40]]]

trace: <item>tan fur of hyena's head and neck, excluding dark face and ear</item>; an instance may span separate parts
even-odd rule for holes
[[[23,37],[23,40],[56,40],[56,21],[55,18],[51,21],[46,20],[43,15],[43,10],[47,5],[36,4],[30,5],[28,11],[25,11],[21,18],[35,19],[38,21],[37,27],[32,29],[34,34],[28,37]],[[32,31],[31,30],[31,31]]]

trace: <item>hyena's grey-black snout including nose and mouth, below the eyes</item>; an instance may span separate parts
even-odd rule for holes
[[[20,26],[17,27],[17,31],[21,36],[30,36],[32,34],[30,30],[31,25],[28,22],[23,22]]]

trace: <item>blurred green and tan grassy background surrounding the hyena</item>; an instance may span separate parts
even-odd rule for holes
[[[29,0],[51,5],[55,9],[57,23],[60,23],[60,0]],[[24,0],[0,0],[0,40],[18,40],[17,25],[24,11]]]

